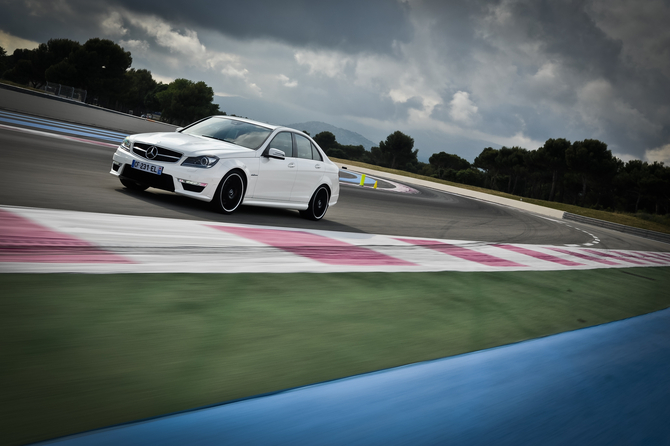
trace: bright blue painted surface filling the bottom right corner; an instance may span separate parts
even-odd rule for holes
[[[670,309],[54,443],[667,445]]]

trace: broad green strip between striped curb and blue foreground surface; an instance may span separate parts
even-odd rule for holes
[[[53,438],[670,305],[670,268],[2,274],[2,444]]]

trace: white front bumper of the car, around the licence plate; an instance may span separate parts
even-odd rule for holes
[[[160,175],[133,169],[132,162],[141,161],[163,167]],[[153,162],[128,151],[117,148],[109,171],[114,176],[126,178],[137,183],[185,195],[196,200],[211,201],[219,185],[218,176],[213,169],[183,167],[181,160],[176,163]]]

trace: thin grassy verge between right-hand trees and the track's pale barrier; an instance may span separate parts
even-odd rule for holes
[[[597,218],[598,220],[605,220],[612,223],[618,223],[620,225],[632,226],[634,228],[647,229],[649,231],[656,231],[670,234],[670,219],[663,218],[661,216],[652,217],[649,216],[649,214],[637,215],[630,213],[599,211],[596,209],[583,208],[571,204],[557,203],[555,201],[545,201],[545,200],[537,200],[535,198],[521,197],[519,195],[512,195],[505,192],[485,189],[483,187],[470,186],[467,184],[454,183],[451,181],[440,180],[438,178],[418,175],[411,172],[405,172],[404,170],[389,169],[386,167],[375,166],[373,164],[361,163],[359,161],[349,161],[338,158],[331,158],[331,160],[336,163],[344,165],[363,167],[366,169],[373,169],[380,172],[393,173],[396,175],[416,178],[419,180],[432,181],[433,183],[446,184],[447,186],[453,186],[453,187],[460,187],[461,189],[482,192],[485,194],[495,195],[497,197],[509,198],[511,200],[516,201],[519,201],[521,198],[523,198],[523,201],[525,201],[526,203],[536,204],[538,206],[544,206],[551,209],[558,209],[559,211],[570,212],[571,214],[582,215],[584,217]]]

